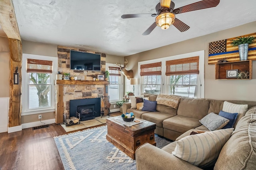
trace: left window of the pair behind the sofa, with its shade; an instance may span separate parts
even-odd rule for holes
[[[142,78],[142,92],[160,94],[162,62],[140,65],[140,76]]]

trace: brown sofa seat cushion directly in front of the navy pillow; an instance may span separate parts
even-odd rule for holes
[[[156,126],[163,127],[163,120],[168,119],[174,115],[160,113],[158,111],[144,113],[142,119],[156,123]]]

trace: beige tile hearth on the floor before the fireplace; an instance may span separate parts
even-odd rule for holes
[[[66,132],[71,132],[71,131],[75,131],[75,130],[79,130],[79,129],[84,129],[84,128],[88,128],[88,127],[92,127],[92,126],[96,126],[96,125],[102,125],[104,123],[106,123],[106,119],[108,118],[108,116],[104,116],[104,117],[95,117],[95,119],[91,119],[91,120],[86,120],[86,121],[81,121],[80,124],[74,124],[74,125],[64,125],[64,123],[61,123],[60,125],[63,127],[63,129]]]

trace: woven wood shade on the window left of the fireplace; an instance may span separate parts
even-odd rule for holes
[[[28,59],[27,72],[52,73],[52,61]]]

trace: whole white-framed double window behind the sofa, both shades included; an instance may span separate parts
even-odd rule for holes
[[[178,63],[174,63],[177,61]],[[161,67],[158,67],[161,69],[158,70],[157,75],[147,75],[153,70],[142,69],[152,63],[162,63]],[[139,94],[144,92],[156,94],[160,91],[163,94],[204,98],[204,51],[141,61],[138,62],[138,70],[140,70]],[[144,73],[141,74],[141,72]]]

